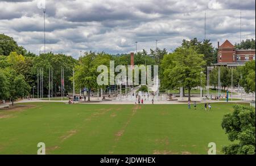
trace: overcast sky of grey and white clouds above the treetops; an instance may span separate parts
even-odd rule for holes
[[[43,50],[43,0],[0,0],[0,33],[36,54]],[[168,51],[183,39],[255,39],[255,0],[46,0],[46,51],[77,58],[82,52]]]

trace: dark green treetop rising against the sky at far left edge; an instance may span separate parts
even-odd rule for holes
[[[18,49],[19,46],[13,37],[0,34],[0,55],[9,56],[11,52],[16,52]]]

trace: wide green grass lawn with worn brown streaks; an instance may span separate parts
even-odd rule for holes
[[[0,110],[0,154],[217,154],[229,144],[221,128],[232,104],[206,112],[179,105],[16,104]]]

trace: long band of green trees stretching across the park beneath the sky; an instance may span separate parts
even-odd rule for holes
[[[243,42],[248,41],[242,41],[240,45],[243,45]],[[39,68],[43,68],[44,80],[48,80],[48,71],[52,68],[55,95],[60,92],[61,67],[64,68],[65,94],[72,91],[73,68],[75,69],[76,90],[85,87],[90,91],[97,90],[97,88],[109,88],[99,87],[96,78],[99,74],[97,67],[99,65],[109,66],[110,60],[115,61],[115,66],[127,66],[130,65],[130,54],[112,55],[90,51],[85,52],[79,59],[52,52],[37,56],[27,52],[22,46],[18,46],[13,38],[1,34],[0,99],[15,100],[18,97],[32,94],[32,87],[37,87],[38,84]],[[183,87],[184,90],[188,90],[189,100],[192,88],[205,85],[206,68],[216,61],[217,49],[212,46],[210,40],[199,41],[196,38],[183,40],[181,45],[171,53],[168,53],[166,49],[156,48],[150,49],[150,52],[142,50],[134,56],[135,65],[159,65],[161,89],[171,90]],[[217,69],[211,71],[210,85],[217,86],[217,74]],[[221,82],[224,89],[231,86],[231,69],[221,67]],[[238,83],[245,88],[246,92],[255,92],[255,61],[233,69],[233,85],[238,86]],[[44,94],[48,94],[47,81],[44,82],[43,87]]]

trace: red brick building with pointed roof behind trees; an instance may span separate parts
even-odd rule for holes
[[[214,66],[243,66],[247,61],[255,60],[255,49],[236,49],[228,40],[221,46],[218,42],[217,59],[218,63],[215,63]]]

